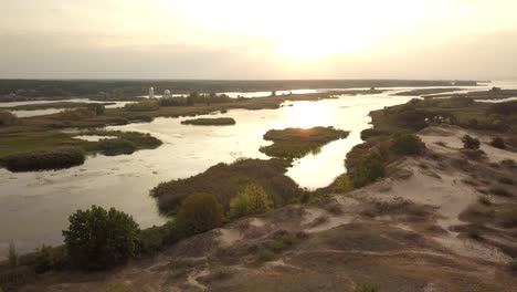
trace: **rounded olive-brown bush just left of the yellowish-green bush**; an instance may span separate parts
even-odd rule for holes
[[[179,230],[190,236],[220,227],[224,216],[213,195],[194,194],[183,201],[176,219]]]

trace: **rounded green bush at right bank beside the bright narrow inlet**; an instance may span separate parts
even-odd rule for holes
[[[350,174],[354,187],[363,187],[386,175],[384,159],[378,150],[370,150],[363,156]]]

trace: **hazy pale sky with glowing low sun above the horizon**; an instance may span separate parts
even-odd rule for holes
[[[517,0],[0,0],[0,77],[517,79]]]

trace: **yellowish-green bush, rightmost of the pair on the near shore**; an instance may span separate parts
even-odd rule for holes
[[[264,188],[256,184],[247,184],[230,201],[230,217],[239,218],[249,215],[258,215],[272,209],[273,201]]]

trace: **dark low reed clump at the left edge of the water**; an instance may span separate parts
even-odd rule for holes
[[[68,168],[82,165],[85,159],[78,148],[57,148],[9,155],[1,163],[11,171],[32,171]]]

